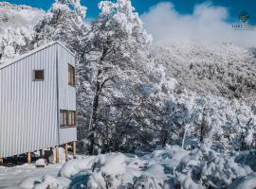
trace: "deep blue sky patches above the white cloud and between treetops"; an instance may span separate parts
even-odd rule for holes
[[[9,3],[29,5],[35,8],[49,9],[53,0],[6,0]],[[88,8],[87,17],[96,17],[99,13],[98,3],[100,0],[82,0],[82,5]],[[256,1],[255,0],[132,0],[133,6],[139,14],[148,11],[151,7],[160,2],[171,2],[174,9],[180,14],[192,14],[195,5],[210,2],[213,6],[225,7],[229,11],[229,20],[236,21],[237,15],[246,10],[250,15],[249,23],[256,24]]]

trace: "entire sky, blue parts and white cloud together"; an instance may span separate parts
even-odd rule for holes
[[[54,0],[5,1],[47,10]],[[97,17],[101,0],[81,1],[87,7],[86,18]],[[132,4],[155,43],[225,42],[256,47],[256,0],[132,0]],[[252,29],[234,29],[242,11],[249,14]]]

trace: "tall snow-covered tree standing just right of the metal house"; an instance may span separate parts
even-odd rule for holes
[[[88,55],[96,68],[90,153],[96,144],[116,150],[137,135],[147,143],[153,127],[146,113],[153,111],[150,104],[154,100],[150,96],[162,90],[163,85],[163,69],[150,59],[151,36],[131,1],[102,1],[99,7],[100,16],[91,24],[94,51]]]

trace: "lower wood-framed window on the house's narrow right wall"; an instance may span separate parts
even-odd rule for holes
[[[76,112],[62,110],[60,114],[61,128],[76,127]]]

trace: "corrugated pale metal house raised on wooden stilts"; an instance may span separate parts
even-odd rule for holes
[[[52,42],[0,64],[0,159],[77,140],[75,61]]]

